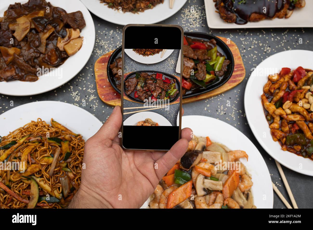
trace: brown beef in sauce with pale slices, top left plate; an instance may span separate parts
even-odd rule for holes
[[[45,0],[10,5],[0,18],[0,81],[36,81],[38,68],[60,66],[80,50],[85,26],[80,11]]]

